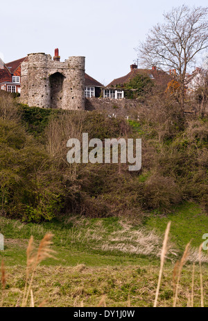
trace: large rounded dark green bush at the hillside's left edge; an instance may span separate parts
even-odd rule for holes
[[[42,146],[21,125],[0,120],[1,213],[27,221],[60,212],[60,177]]]

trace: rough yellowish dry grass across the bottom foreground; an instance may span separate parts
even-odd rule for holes
[[[22,266],[7,267],[7,284],[3,306],[15,306],[24,291],[25,271]],[[157,288],[158,267],[46,267],[37,269],[33,282],[35,306],[45,299],[46,306],[96,307],[106,295],[107,307],[152,307]],[[208,306],[208,274],[202,268],[205,306]],[[158,306],[173,306],[173,266],[166,264],[159,291]],[[191,295],[191,267],[184,267],[177,306],[187,306]],[[1,289],[0,289],[1,296]],[[200,275],[196,267],[194,306],[200,306]]]

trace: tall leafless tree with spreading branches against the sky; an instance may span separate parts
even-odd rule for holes
[[[180,105],[184,107],[187,67],[196,54],[208,47],[208,8],[182,5],[164,13],[164,24],[150,29],[145,42],[136,48],[140,63],[173,68],[180,84]]]

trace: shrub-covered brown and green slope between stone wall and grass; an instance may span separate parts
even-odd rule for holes
[[[1,215],[24,221],[81,213],[125,214],[142,220],[147,210],[168,212],[184,201],[207,211],[208,121],[184,119],[174,102],[151,100],[138,120],[104,113],[28,108],[1,93]],[[153,112],[154,111],[154,112]],[[128,164],[69,164],[67,141],[141,138],[142,168]]]

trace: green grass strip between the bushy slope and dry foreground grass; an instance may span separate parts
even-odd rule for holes
[[[20,221],[0,218],[0,233],[6,239],[5,251],[1,252],[7,265],[25,264],[26,246],[33,235],[35,242],[42,240],[47,232],[53,233],[53,249],[58,260],[47,260],[45,265],[89,267],[158,265],[164,231],[171,221],[171,249],[168,258],[175,261],[183,253],[186,244],[198,248],[208,233],[208,217],[202,214],[198,205],[184,204],[174,213],[161,216],[151,213],[144,226],[125,217],[87,219],[68,217],[67,219],[43,222],[42,224],[22,224]],[[153,235],[149,236],[149,233]],[[141,238],[145,238],[141,246]],[[141,246],[141,247],[139,247]],[[148,252],[148,246],[153,249]],[[173,255],[177,253],[177,256]]]

